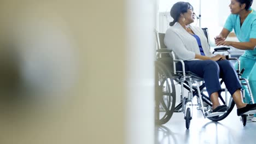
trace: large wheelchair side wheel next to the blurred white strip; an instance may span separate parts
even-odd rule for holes
[[[174,112],[176,91],[170,71],[160,61],[155,62],[155,123],[167,123]]]

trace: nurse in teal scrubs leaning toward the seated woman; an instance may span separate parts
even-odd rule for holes
[[[231,14],[225,22],[222,32],[215,38],[216,45],[234,46],[245,50],[240,56],[241,69],[245,68],[242,77],[249,80],[252,94],[256,102],[256,11],[251,8],[253,0],[231,0],[229,5]],[[225,41],[228,34],[234,29],[240,42]],[[237,68],[237,64],[235,66]],[[246,89],[246,101],[249,103],[248,88]],[[252,121],[256,122],[256,114]]]

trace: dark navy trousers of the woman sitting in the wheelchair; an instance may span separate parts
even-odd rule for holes
[[[191,71],[192,73],[203,77],[209,97],[214,92],[220,94],[222,90],[219,82],[220,78],[223,79],[225,86],[231,95],[233,95],[237,89],[242,88],[237,73],[228,60],[217,62],[212,60],[195,60],[184,61],[184,63],[186,71]],[[182,70],[181,63],[177,63],[176,68],[177,70]]]

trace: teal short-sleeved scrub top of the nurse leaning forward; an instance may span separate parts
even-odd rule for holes
[[[252,12],[246,17],[243,25],[240,27],[240,17],[237,14],[230,14],[225,22],[224,28],[230,32],[234,28],[236,37],[241,42],[247,42],[250,38],[256,39],[256,11],[251,9]],[[245,50],[245,55],[256,56],[256,49]]]

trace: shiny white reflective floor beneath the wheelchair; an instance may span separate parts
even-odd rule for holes
[[[236,107],[230,115],[219,122],[203,118],[200,110],[193,108],[193,119],[189,130],[185,127],[183,113],[174,113],[170,121],[155,128],[156,144],[177,143],[223,143],[254,144],[256,143],[256,122],[247,121],[243,127],[240,117],[236,115]]]

